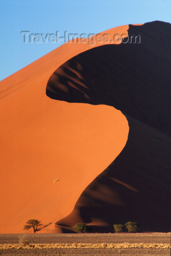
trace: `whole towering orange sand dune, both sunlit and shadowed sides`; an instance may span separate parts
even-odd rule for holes
[[[67,43],[1,81],[1,233],[170,231],[170,31],[117,27],[141,43]]]

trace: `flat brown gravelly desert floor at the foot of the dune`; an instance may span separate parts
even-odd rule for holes
[[[20,234],[0,234],[0,244],[17,244]],[[53,243],[164,243],[170,244],[171,233],[121,233],[121,234],[27,234],[32,244]],[[0,255],[120,255],[120,256],[170,256],[163,248],[57,248],[57,249],[0,249]]]

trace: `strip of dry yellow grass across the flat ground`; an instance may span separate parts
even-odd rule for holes
[[[117,244],[91,244],[91,243],[73,243],[73,244],[0,244],[0,249],[55,249],[55,248],[152,248],[152,249],[170,249],[170,244],[165,243],[117,243]]]

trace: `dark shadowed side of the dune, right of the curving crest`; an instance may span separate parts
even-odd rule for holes
[[[130,25],[130,34],[141,42],[87,50],[48,80],[50,98],[113,106],[129,124],[123,151],[56,223],[63,232],[76,222],[113,231],[112,224],[127,221],[138,222],[141,231],[170,231],[171,24]]]

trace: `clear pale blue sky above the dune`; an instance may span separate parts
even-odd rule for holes
[[[171,23],[171,0],[0,0],[0,80],[63,44],[25,44],[21,31],[96,34],[153,20]]]

